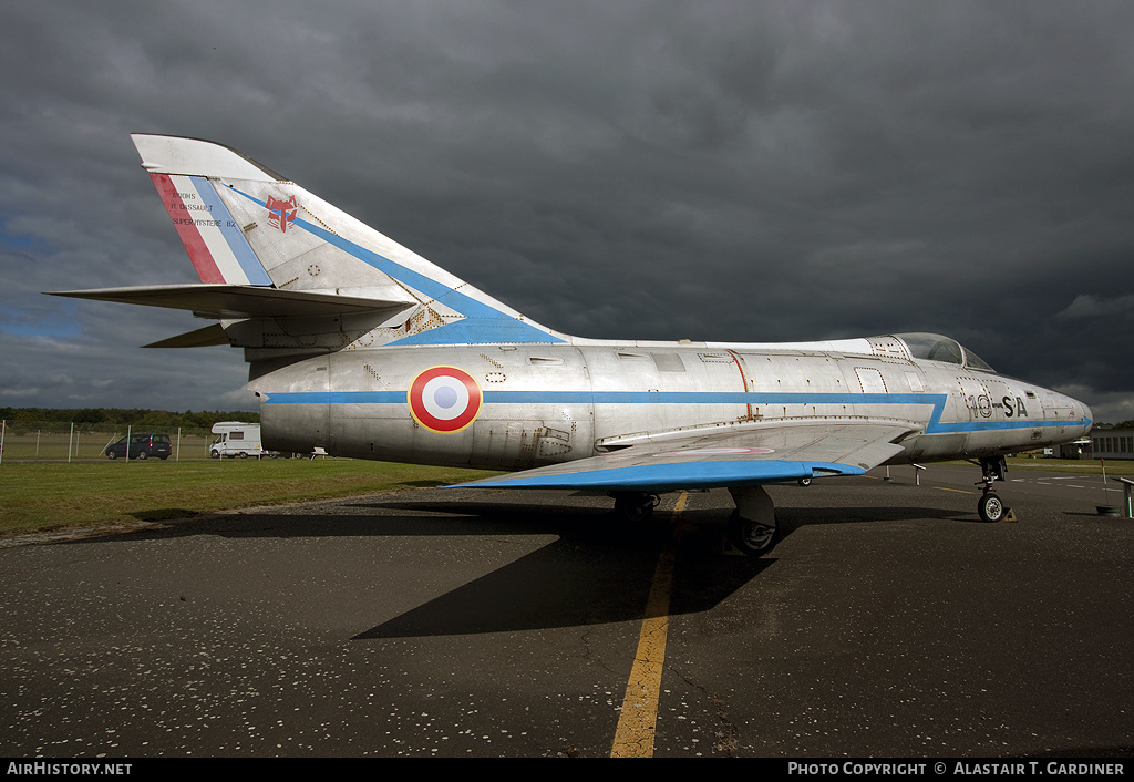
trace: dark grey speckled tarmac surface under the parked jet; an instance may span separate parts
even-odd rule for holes
[[[983,524],[976,468],[891,472],[770,487],[759,560],[723,490],[645,529],[429,488],[9,539],[0,757],[1134,754],[1117,485],[1014,470]]]

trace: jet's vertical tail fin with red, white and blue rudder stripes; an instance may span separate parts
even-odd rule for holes
[[[132,137],[202,283],[413,308],[384,344],[564,340],[235,150]]]

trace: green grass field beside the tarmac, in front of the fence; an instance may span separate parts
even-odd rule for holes
[[[482,470],[338,459],[0,464],[0,535],[160,521],[197,513],[485,478]]]

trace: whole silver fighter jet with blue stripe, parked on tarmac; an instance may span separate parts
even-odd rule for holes
[[[220,144],[135,135],[200,285],[59,295],[218,322],[152,346],[243,347],[272,451],[494,470],[467,486],[610,495],[727,487],[730,539],[776,541],[763,485],[968,459],[978,512],[1004,455],[1083,436],[1091,411],[937,334],[733,344],[582,339],[533,322]]]

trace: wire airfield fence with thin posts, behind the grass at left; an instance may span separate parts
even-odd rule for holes
[[[172,460],[209,459],[217,436],[208,428],[132,426],[130,434],[169,435]],[[126,437],[125,423],[62,423],[59,421],[0,421],[0,464],[7,461],[107,459],[107,446]]]

